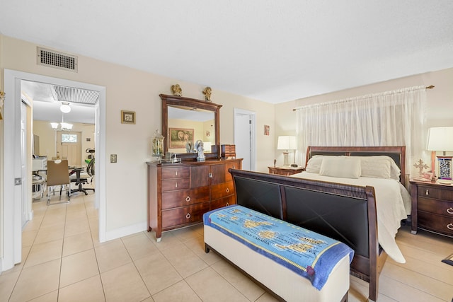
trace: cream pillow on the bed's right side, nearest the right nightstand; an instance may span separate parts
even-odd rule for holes
[[[391,178],[399,180],[401,170],[390,156],[357,156],[362,161],[362,176],[367,178]]]

